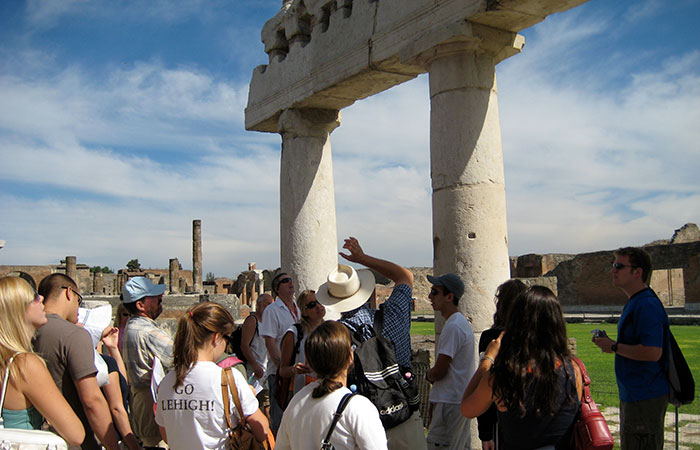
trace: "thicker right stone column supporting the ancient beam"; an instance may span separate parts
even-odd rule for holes
[[[460,309],[480,333],[510,276],[497,61],[474,42],[443,44],[431,56],[433,270],[462,278]]]

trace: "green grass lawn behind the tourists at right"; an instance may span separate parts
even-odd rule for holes
[[[591,342],[590,331],[600,328],[605,330],[609,336],[617,335],[617,325],[610,323],[590,324],[576,323],[568,324],[567,332],[569,337],[576,338],[578,357],[583,360],[591,377],[591,394],[596,403],[603,408],[606,406],[618,406],[617,382],[615,381],[614,358],[610,354],[600,351]],[[434,324],[432,322],[413,322],[411,324],[411,334],[413,335],[433,335]],[[685,355],[690,370],[695,377],[696,384],[700,382],[700,327],[675,325],[671,326],[671,331],[678,341],[678,345]],[[696,399],[690,405],[679,408],[681,413],[700,414],[700,389],[695,388]],[[672,410],[673,407],[671,406]]]

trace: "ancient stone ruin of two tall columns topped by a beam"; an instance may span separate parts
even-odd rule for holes
[[[475,331],[490,326],[509,275],[495,66],[521,51],[518,31],[584,2],[283,2],[262,30],[269,63],[253,71],[245,124],[282,136],[281,264],[299,289],[337,264],[330,134],[340,110],[427,72],[433,270],[459,274],[471,299],[462,312]]]

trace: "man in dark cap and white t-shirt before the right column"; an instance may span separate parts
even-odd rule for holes
[[[426,380],[432,383],[432,420],[427,436],[429,449],[466,449],[470,445],[470,420],[462,416],[461,399],[476,371],[474,330],[459,311],[464,283],[453,273],[428,275],[433,286],[428,298],[436,313],[445,319],[438,341],[435,365]]]

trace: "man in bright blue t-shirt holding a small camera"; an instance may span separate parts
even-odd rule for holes
[[[604,353],[615,354],[615,377],[620,396],[622,449],[662,449],[669,385],[664,374],[664,341],[669,329],[661,301],[647,283],[651,257],[641,248],[615,252],[613,285],[628,300],[617,323],[617,341],[594,336]]]

